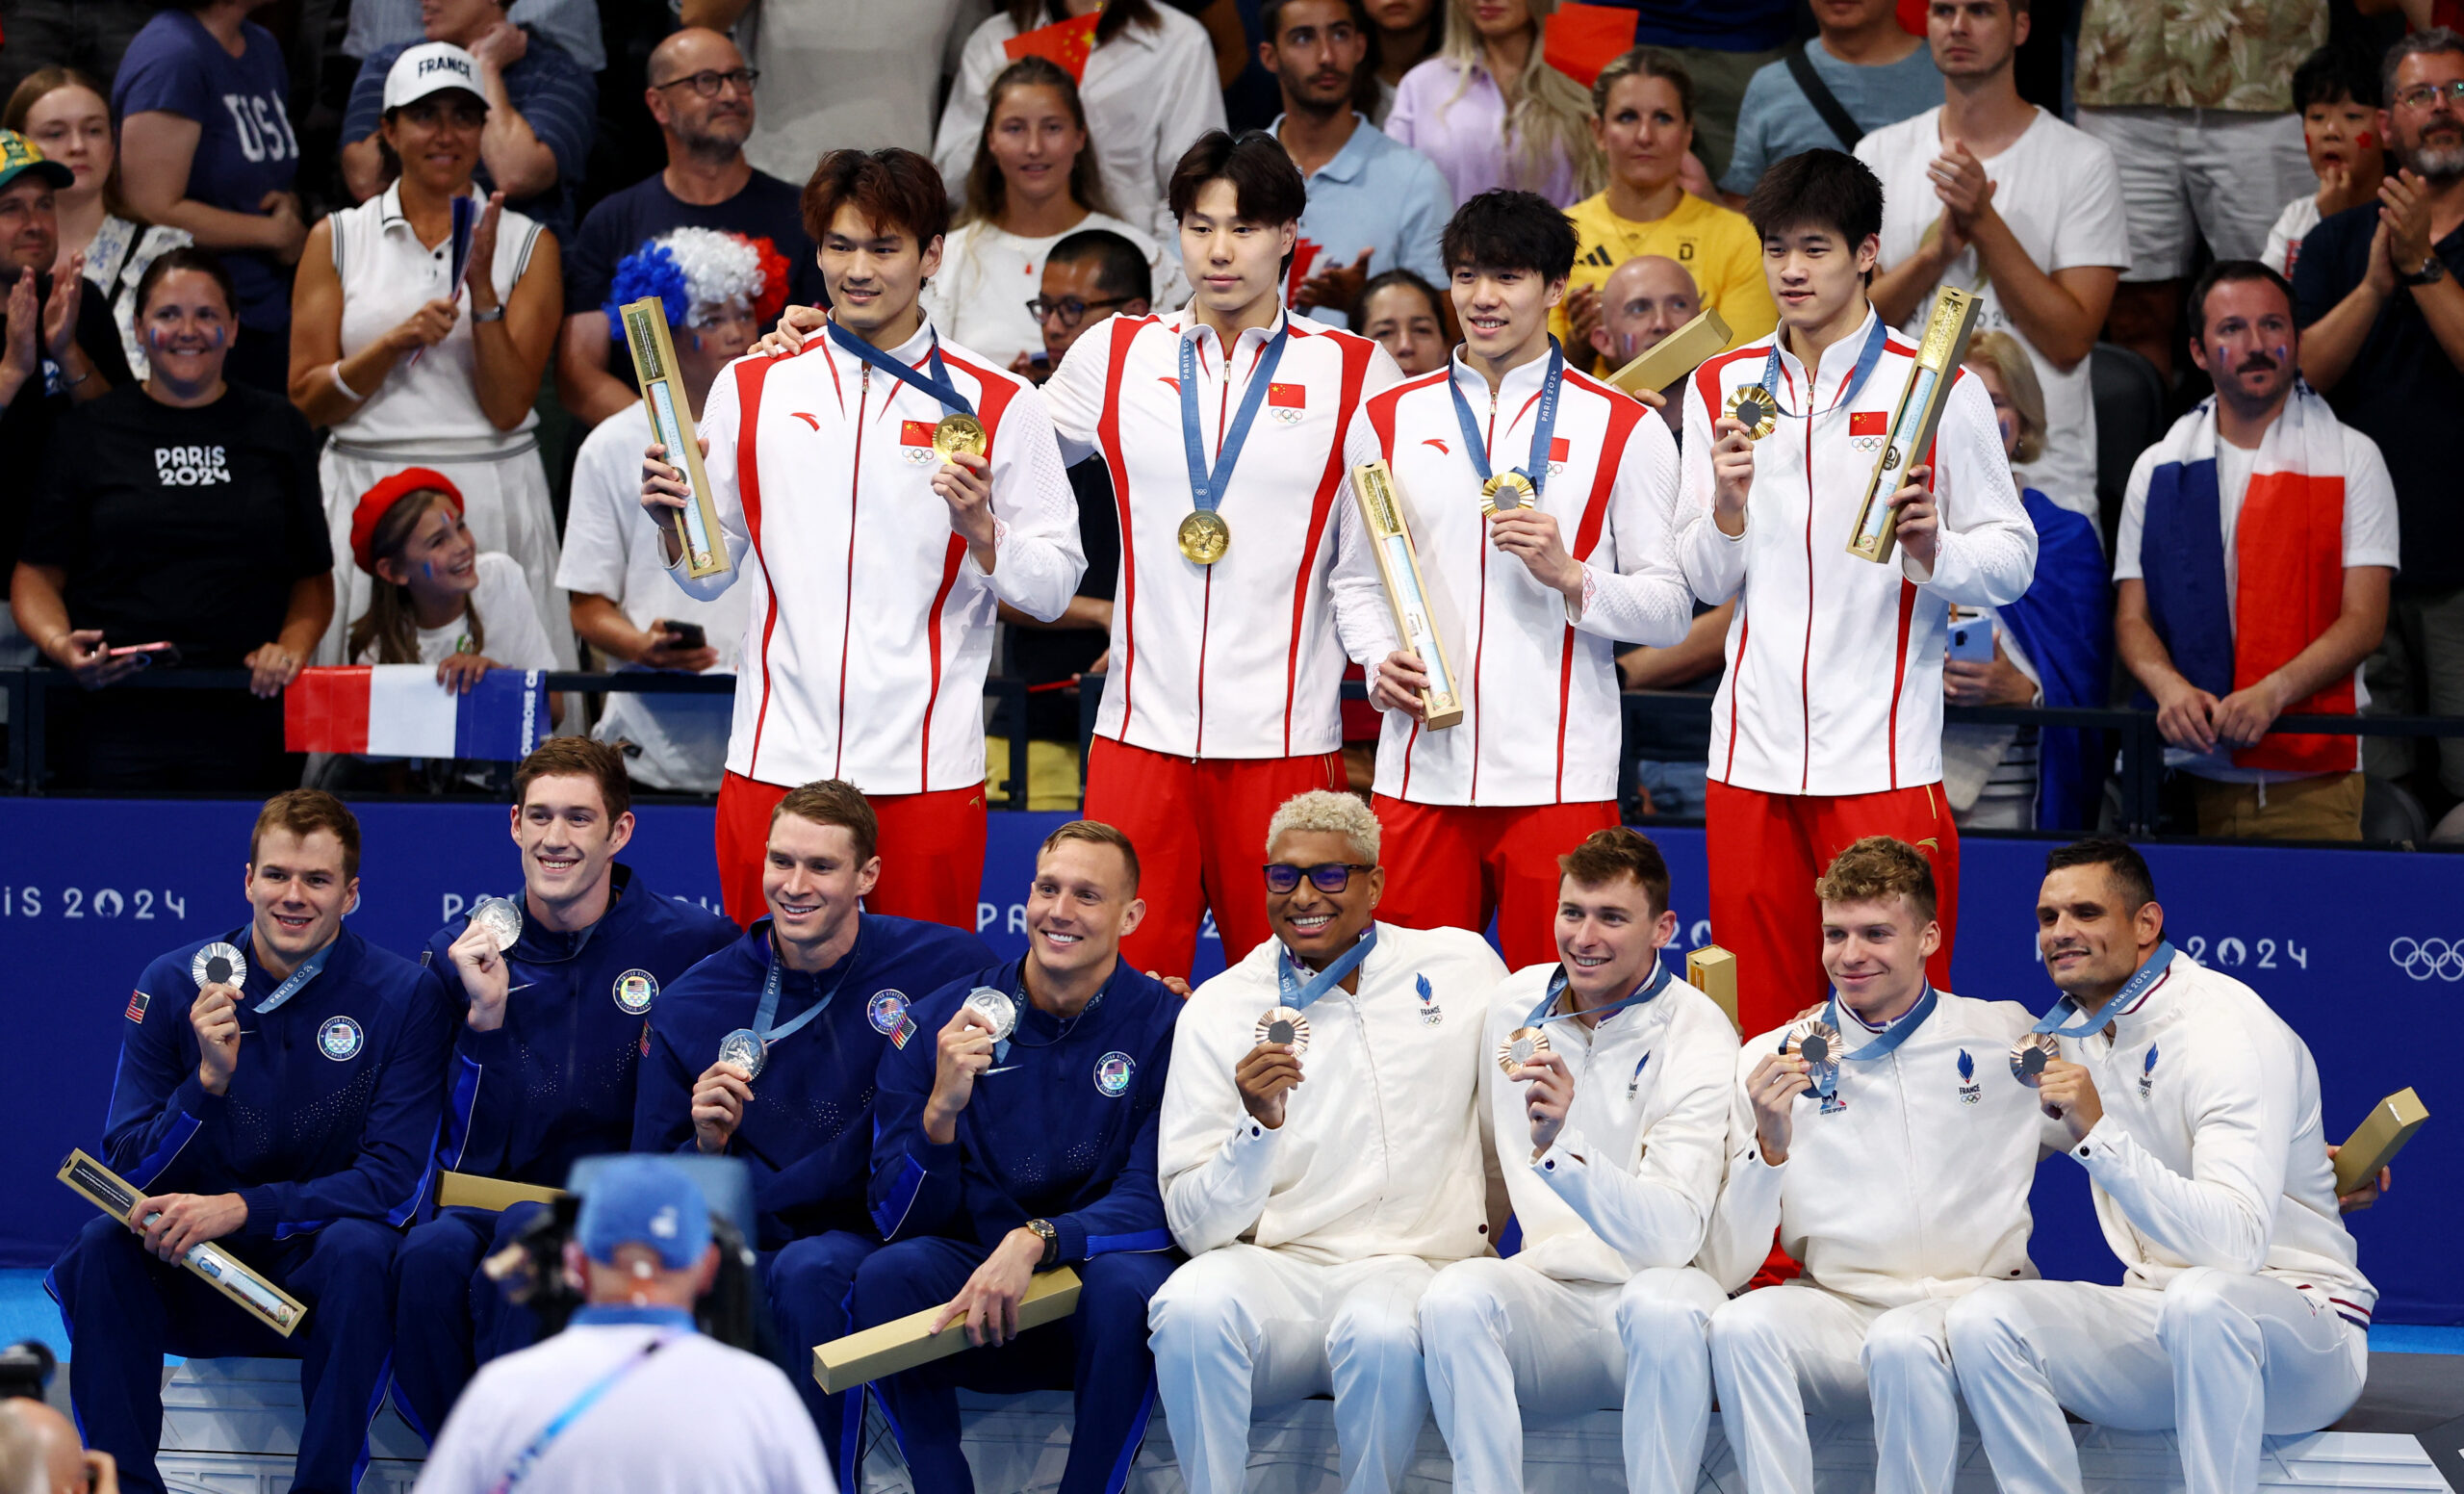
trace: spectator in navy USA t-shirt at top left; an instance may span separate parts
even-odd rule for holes
[[[111,79],[121,187],[143,222],[222,254],[239,288],[232,377],[283,390],[291,266],[308,242],[291,71],[274,32],[249,20],[271,0],[182,0],[128,42]]]

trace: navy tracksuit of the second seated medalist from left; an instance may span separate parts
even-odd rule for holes
[[[471,920],[429,937],[421,961],[444,984],[439,1018],[453,1033],[436,1166],[562,1188],[574,1161],[631,1144],[650,1008],[675,976],[732,944],[737,925],[650,892],[626,865],[614,868],[614,888],[609,910],[579,934],[522,920],[505,952],[505,1026],[493,1033],[471,1031],[451,954]],[[505,1302],[478,1270],[537,1210],[448,1208],[394,1255],[394,1405],[431,1442],[478,1366],[537,1336],[530,1309]]]

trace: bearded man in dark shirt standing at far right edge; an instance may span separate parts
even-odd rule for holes
[[[2390,712],[2464,712],[2464,510],[2444,429],[2464,407],[2464,35],[2415,32],[2380,67],[2378,131],[2397,168],[2321,222],[2294,261],[2301,377],[2373,441],[2395,481],[2405,579],[2370,661]],[[2370,745],[2373,774],[2405,774],[2412,745]],[[2439,742],[2442,799],[2464,796],[2464,740]]]

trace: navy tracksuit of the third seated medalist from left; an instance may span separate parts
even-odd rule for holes
[[[865,1213],[872,1166],[872,1072],[892,1035],[931,1055],[931,1028],[917,1028],[914,998],[983,969],[983,939],[944,925],[877,912],[857,915],[855,949],[821,974],[779,971],[774,1026],[830,1006],[769,1050],[744,1124],[727,1144],[754,1176],[761,1280],[779,1326],[786,1376],[796,1383],[840,1489],[862,1432],[862,1400],[823,1395],[813,1383],[813,1346],[848,1331],[855,1267],[880,1250]],[[771,964],[771,925],[685,971],[650,1013],[650,1050],[633,1107],[633,1151],[692,1149],[692,1082],[719,1060],[719,1038],[754,1026]]]

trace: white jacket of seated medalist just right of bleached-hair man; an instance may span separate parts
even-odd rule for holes
[[[1491,1055],[1481,1104],[1515,1208],[1515,1260],[1560,1282],[1680,1267],[1703,1247],[1720,1198],[1737,1031],[1685,981],[1611,1011],[1597,1028],[1550,1023],[1550,1048],[1574,1075],[1574,1104],[1547,1151],[1533,1156],[1523,1112],[1530,1085],[1508,1080],[1493,1055],[1555,974],[1555,964],[1535,964],[1506,976],[1481,1043]]]

